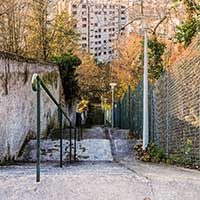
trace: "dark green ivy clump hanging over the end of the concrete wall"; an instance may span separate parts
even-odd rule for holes
[[[81,64],[80,58],[71,52],[54,57],[58,65],[62,79],[62,85],[66,101],[71,101],[79,96],[79,86],[76,74],[76,67]]]

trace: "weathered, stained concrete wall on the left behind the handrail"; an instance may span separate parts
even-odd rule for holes
[[[57,66],[41,64],[15,55],[0,52],[0,161],[16,159],[29,137],[36,132],[36,93],[31,78],[38,73],[52,94],[60,101],[61,80]],[[42,91],[41,126],[57,123],[57,108]]]

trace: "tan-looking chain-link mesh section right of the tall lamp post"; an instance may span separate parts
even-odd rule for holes
[[[154,138],[170,153],[200,161],[200,37],[154,90]]]

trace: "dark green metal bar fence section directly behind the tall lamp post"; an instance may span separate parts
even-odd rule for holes
[[[153,85],[149,83],[149,134],[153,139]],[[143,82],[140,81],[135,90],[128,90],[122,99],[118,99],[114,109],[115,127],[121,129],[130,129],[137,138],[142,138],[143,129]]]

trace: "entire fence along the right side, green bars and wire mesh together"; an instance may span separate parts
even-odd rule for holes
[[[200,163],[200,38],[149,84],[149,136],[167,154]],[[115,105],[115,127],[142,137],[143,82]],[[195,161],[195,162],[194,162]]]

